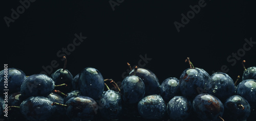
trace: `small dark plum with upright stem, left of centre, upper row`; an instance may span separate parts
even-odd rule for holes
[[[63,69],[58,69],[54,73],[52,73],[51,78],[55,82],[56,85],[60,85],[63,83],[66,83],[67,86],[58,86],[55,87],[56,90],[60,90],[62,93],[69,93],[72,90],[72,80],[73,80],[73,75],[70,73],[69,70],[66,69],[67,66],[67,58],[63,56],[65,59],[65,65]]]

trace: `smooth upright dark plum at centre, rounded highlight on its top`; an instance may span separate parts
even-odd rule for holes
[[[127,76],[121,83],[122,99],[125,103],[138,103],[145,95],[145,85],[138,76]]]

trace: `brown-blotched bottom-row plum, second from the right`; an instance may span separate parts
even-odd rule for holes
[[[219,120],[224,113],[224,105],[215,96],[199,94],[193,100],[193,110],[201,120]]]

